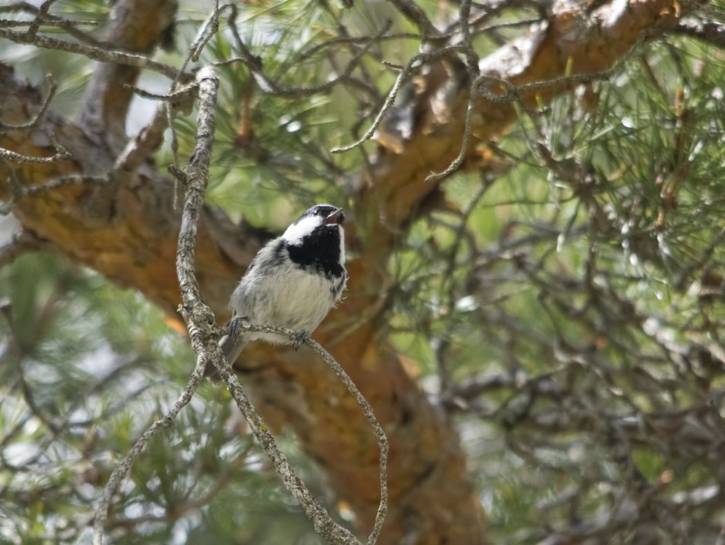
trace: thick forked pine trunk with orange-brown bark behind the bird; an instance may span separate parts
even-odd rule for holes
[[[589,14],[579,2],[555,2],[547,28],[483,59],[480,69],[517,85],[560,77],[570,59],[574,73],[604,70],[637,42],[641,32],[658,33],[680,15],[675,1],[615,2]],[[138,28],[144,40],[145,33],[163,30]],[[434,65],[426,84],[442,88],[448,77],[444,65]],[[571,83],[562,83],[540,89],[539,95],[546,100],[568,88]],[[38,93],[14,79],[8,68],[0,70],[0,93],[5,97],[4,122],[28,120],[41,104]],[[426,182],[426,176],[444,170],[456,157],[467,99],[460,91],[443,98],[442,93],[419,93],[418,102],[407,105],[418,112],[412,136],[397,138],[395,149],[384,146],[381,138],[372,167],[361,174],[365,183],[355,199],[360,204],[352,214],[354,244],[360,257],[349,265],[347,300],[315,333],[368,398],[389,436],[390,508],[381,537],[386,544],[484,542],[484,512],[466,475],[455,427],[426,399],[380,333],[385,330],[385,301],[392,286],[386,262],[394,239],[435,197],[438,183]],[[531,96],[522,99],[529,101]],[[505,133],[513,120],[512,104],[478,99],[464,167],[480,167],[479,145]],[[115,144],[102,145],[95,138],[97,130],[88,135],[52,113],[36,131],[2,136],[0,146],[27,155],[52,155],[46,136],[51,131],[75,159],[17,165],[20,183],[112,169],[115,154],[109,148]],[[138,289],[175,316],[179,220],[171,201],[169,181],[146,164],[125,175],[112,191],[61,188],[22,199],[14,212],[25,229],[51,241],[70,259]],[[233,225],[221,212],[204,211],[196,265],[202,293],[219,320],[225,319],[228,295],[260,244],[254,230]],[[294,429],[302,448],[318,460],[339,498],[356,513],[360,530],[368,531],[378,502],[378,452],[344,386],[306,350],[292,353],[258,344],[245,351],[239,370],[265,418],[275,428]]]

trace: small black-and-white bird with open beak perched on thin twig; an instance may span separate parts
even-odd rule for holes
[[[257,338],[274,344],[289,339],[272,333],[239,333],[239,325],[274,325],[299,331],[295,350],[340,301],[347,282],[345,216],[341,208],[318,204],[282,236],[262,248],[236,287],[228,333],[219,344],[230,364]]]

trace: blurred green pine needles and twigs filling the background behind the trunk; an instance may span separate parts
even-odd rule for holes
[[[442,28],[457,17],[455,4],[418,4]],[[54,9],[102,28],[109,8]],[[160,57],[178,64],[206,14],[183,5],[177,52]],[[506,9],[477,51],[537,17],[534,7]],[[387,19],[391,33],[415,32],[381,2],[250,1],[237,22],[265,73],[306,87],[359,50],[329,43],[341,25],[372,36]],[[365,85],[308,97],[267,95],[241,65],[223,67],[207,199],[271,231],[318,201],[354,210],[345,184],[374,144],[329,150],[360,136],[380,107],[396,75],[381,60],[402,64],[418,45],[379,43],[363,58]],[[35,83],[51,70],[54,108],[78,111],[91,63],[1,48]],[[220,33],[204,56],[234,48]],[[446,209],[398,241],[386,327],[455,416],[493,543],[725,535],[724,62],[723,50],[687,38],[640,46],[611,80],[555,100],[546,115],[521,112],[492,144],[497,172],[447,180]],[[153,74],[140,83],[165,85]],[[130,126],[153,107],[136,99]],[[194,116],[175,130],[186,157]],[[170,149],[157,160],[170,163]],[[99,486],[173,402],[193,354],[143,297],[62,257],[2,268],[0,298],[0,541],[83,542]],[[283,436],[302,478],[349,522],[294,443]],[[109,520],[114,543],[319,542],[220,388],[202,386],[130,476]]]

